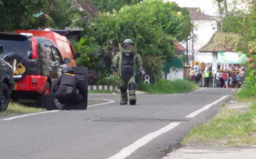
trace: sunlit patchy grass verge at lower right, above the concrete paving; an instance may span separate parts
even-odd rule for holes
[[[251,110],[238,112],[227,109],[219,112],[210,122],[192,129],[181,144],[205,143],[216,139],[224,139],[225,145],[256,144],[256,100]]]

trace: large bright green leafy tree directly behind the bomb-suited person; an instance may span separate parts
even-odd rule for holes
[[[100,46],[106,47],[110,39],[122,42],[131,38],[138,45],[147,73],[155,80],[161,77],[161,60],[174,56],[174,40],[186,39],[192,29],[186,9],[162,0],[145,0],[113,14],[101,13],[94,23]]]

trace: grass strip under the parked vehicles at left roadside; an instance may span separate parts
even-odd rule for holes
[[[0,116],[10,116],[14,114],[26,114],[26,113],[38,113],[45,110],[42,108],[32,107],[32,106],[35,106],[35,104],[29,101],[24,102],[24,104],[26,104],[27,106],[20,103],[10,102],[7,110],[0,111]]]

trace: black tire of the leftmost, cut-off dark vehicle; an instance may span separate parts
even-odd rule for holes
[[[0,83],[0,111],[6,110],[10,102],[10,90],[5,83]]]

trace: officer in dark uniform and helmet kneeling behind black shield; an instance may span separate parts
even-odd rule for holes
[[[74,74],[73,68],[66,66],[61,70],[61,73],[62,75],[57,82],[53,84],[52,90],[56,92],[55,106],[63,110],[68,104],[82,102],[83,96],[78,94],[78,90],[81,90],[82,86]]]

